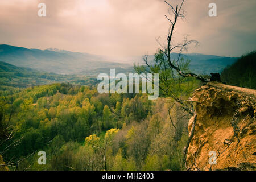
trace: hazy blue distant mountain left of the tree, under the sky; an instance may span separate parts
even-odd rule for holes
[[[0,61],[19,67],[28,67],[40,71],[72,74],[86,73],[98,68],[128,68],[130,65],[116,63],[104,56],[91,55],[58,49],[27,49],[2,44]]]

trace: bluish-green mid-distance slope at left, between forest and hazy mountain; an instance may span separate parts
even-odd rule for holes
[[[71,82],[72,84],[94,86],[98,81],[96,77],[59,75],[31,68],[16,67],[15,65],[0,61],[0,96],[3,91],[13,91],[13,87],[27,88],[30,86],[52,84],[55,82]]]

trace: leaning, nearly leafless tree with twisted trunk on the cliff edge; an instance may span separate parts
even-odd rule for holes
[[[184,69],[184,55],[183,52],[187,51],[189,46],[195,45],[197,46],[198,42],[196,40],[188,40],[188,36],[184,37],[183,42],[175,44],[174,43],[174,34],[175,34],[175,27],[177,22],[180,19],[185,19],[185,11],[183,10],[184,0],[181,1],[180,4],[176,4],[176,6],[172,6],[171,3],[168,3],[167,1],[164,1],[168,7],[169,10],[169,16],[165,15],[168,22],[170,23],[170,27],[168,28],[167,33],[167,42],[166,44],[160,43],[159,39],[156,41],[159,43],[160,49],[158,55],[155,56],[155,62],[154,65],[152,65],[148,61],[147,55],[143,57],[143,61],[146,63],[147,67],[149,69],[139,68],[135,66],[135,70],[138,73],[142,72],[150,72],[150,73],[159,73],[159,80],[163,84],[159,84],[159,89],[162,90],[163,94],[167,97],[172,98],[173,105],[169,109],[169,117],[172,126],[174,126],[174,129],[177,133],[177,126],[175,126],[175,123],[171,117],[170,110],[172,107],[176,104],[180,107],[181,110],[185,111],[187,115],[191,116],[192,119],[192,126],[191,131],[188,131],[188,141],[186,146],[184,147],[184,162],[185,167],[187,168],[186,164],[186,158],[187,158],[187,151],[189,144],[191,143],[191,140],[193,138],[193,135],[195,133],[195,125],[196,125],[196,118],[197,115],[195,113],[195,108],[193,105],[193,102],[191,100],[184,100],[180,97],[179,94],[176,94],[175,92],[170,91],[171,84],[168,84],[167,82],[170,80],[170,77],[172,77],[172,80],[179,82],[179,85],[181,85],[181,81],[184,78],[187,77],[193,77],[197,80],[200,80],[201,82],[209,82],[210,79],[205,78],[201,75],[197,75],[195,73],[189,72],[188,69]],[[172,57],[172,52],[178,52],[178,56]],[[161,53],[163,56],[161,56]],[[187,62],[185,64],[189,63]],[[162,74],[160,74],[162,73]],[[179,78],[177,78],[179,76]],[[167,84],[166,84],[167,83]]]

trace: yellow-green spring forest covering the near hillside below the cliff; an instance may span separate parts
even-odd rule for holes
[[[183,147],[175,147],[169,107],[160,98],[148,100],[146,94],[98,94],[96,88],[71,84],[23,89],[0,97],[0,124],[9,123],[7,131],[15,130],[0,151],[20,141],[3,153],[4,161],[33,154],[18,170],[184,169],[179,162]],[[180,146],[186,143],[187,121],[179,119]],[[1,132],[6,131],[0,127]],[[98,148],[106,145],[105,163],[104,150]],[[37,163],[41,150],[46,151],[46,165]]]

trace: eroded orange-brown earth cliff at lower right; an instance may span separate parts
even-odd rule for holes
[[[197,119],[187,167],[256,170],[256,90],[209,82],[191,100]],[[188,125],[190,131],[192,122]]]

